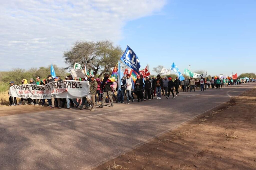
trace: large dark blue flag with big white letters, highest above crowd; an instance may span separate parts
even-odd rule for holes
[[[121,57],[121,60],[130,68],[132,68],[136,72],[139,72],[139,69],[141,67],[140,60],[128,45],[124,54]]]

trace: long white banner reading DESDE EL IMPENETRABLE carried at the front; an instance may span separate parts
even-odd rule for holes
[[[23,99],[83,98],[89,94],[89,81],[65,80],[50,82],[44,86],[22,84],[10,87],[9,95]]]

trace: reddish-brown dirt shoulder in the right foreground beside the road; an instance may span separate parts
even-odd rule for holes
[[[256,169],[256,89],[94,170]]]

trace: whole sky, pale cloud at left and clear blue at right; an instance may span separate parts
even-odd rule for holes
[[[256,72],[256,1],[12,1],[0,7],[0,70],[57,64],[78,40],[133,49],[142,67]]]

